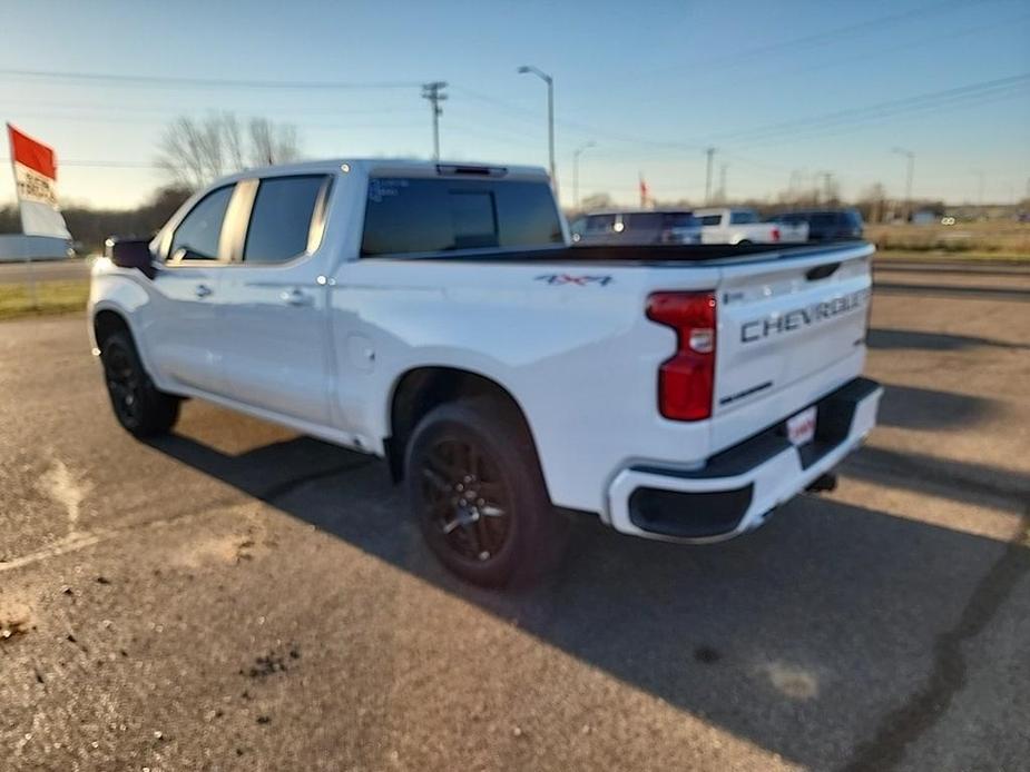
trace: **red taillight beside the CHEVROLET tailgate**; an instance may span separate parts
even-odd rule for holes
[[[715,389],[715,294],[655,293],[647,318],[676,330],[676,354],[658,368],[658,409],[673,420],[712,415]]]

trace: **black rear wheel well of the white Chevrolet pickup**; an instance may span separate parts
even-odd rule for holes
[[[490,378],[452,367],[420,367],[405,373],[393,390],[390,405],[390,437],[385,441],[386,461],[394,482],[404,478],[404,453],[408,439],[422,417],[434,407],[462,397],[488,396],[526,429],[529,423],[514,397]]]

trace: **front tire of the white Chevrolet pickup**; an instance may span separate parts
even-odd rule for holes
[[[157,389],[144,369],[131,335],[109,335],[100,347],[100,360],[115,417],[129,434],[153,437],[175,425],[179,398]]]

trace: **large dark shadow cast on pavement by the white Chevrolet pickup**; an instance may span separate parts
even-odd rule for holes
[[[305,437],[235,456],[184,435],[153,447],[815,769],[896,761],[961,686],[961,651],[942,641],[974,634],[970,608],[974,622],[990,618],[984,604],[1001,603],[1009,574],[1030,571],[1021,547],[801,497],[758,532],[705,547],[625,537],[580,516],[553,575],[491,592],[435,563],[383,464]],[[881,477],[883,462],[865,476]],[[1002,564],[1009,573],[991,578]]]

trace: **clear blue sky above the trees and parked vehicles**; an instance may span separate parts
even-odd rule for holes
[[[163,180],[146,168],[163,127],[212,110],[292,122],[312,158],[428,157],[429,107],[414,83],[429,80],[450,83],[444,157],[546,165],[545,86],[516,73],[523,63],[556,81],[566,202],[572,151],[590,140],[581,196],[625,202],[638,174],[658,198],[698,200],[709,145],[736,197],[824,171],[845,196],[877,181],[900,195],[895,146],[916,152],[916,196],[975,201],[982,172],[985,200],[1012,200],[1030,179],[1030,81],[979,86],[1030,73],[1027,0],[33,0],[6,3],[3,18],[0,118],[51,143],[59,162],[109,164],[61,167],[66,201],[145,199]],[[11,70],[413,86],[171,87]],[[9,177],[0,201],[13,197]]]

